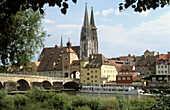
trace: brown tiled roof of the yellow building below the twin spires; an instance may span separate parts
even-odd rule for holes
[[[102,54],[94,54],[89,57],[89,63],[85,68],[100,68],[102,65],[114,65],[112,61],[109,61]]]

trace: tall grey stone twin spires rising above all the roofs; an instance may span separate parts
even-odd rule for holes
[[[89,24],[87,3],[85,6],[84,23],[80,35],[80,60],[98,54],[97,28],[94,22],[93,8],[91,8],[91,19]]]

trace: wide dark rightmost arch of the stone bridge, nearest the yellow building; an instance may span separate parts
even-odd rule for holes
[[[67,82],[63,86],[64,86],[64,89],[75,89],[75,90],[79,89],[79,84],[74,81]]]

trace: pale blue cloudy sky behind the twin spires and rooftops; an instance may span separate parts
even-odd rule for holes
[[[121,1],[77,0],[74,4],[70,0],[66,15],[63,15],[57,6],[46,5],[42,26],[51,37],[46,38],[45,47],[54,47],[56,44],[60,46],[61,36],[64,46],[68,37],[72,46],[80,45],[80,32],[87,3],[89,19],[93,7],[99,53],[105,57],[128,54],[141,56],[147,49],[160,54],[170,51],[169,6],[142,13],[136,13],[131,8],[120,12],[118,7]]]

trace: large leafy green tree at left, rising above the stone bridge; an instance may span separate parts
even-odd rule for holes
[[[4,68],[11,64],[27,66],[47,36],[41,26],[43,15],[31,9],[19,11],[6,19],[0,31],[0,60]]]

